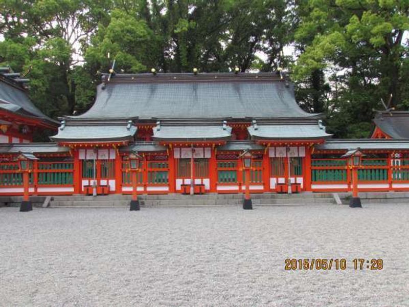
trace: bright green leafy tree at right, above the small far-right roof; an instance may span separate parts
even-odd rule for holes
[[[317,91],[313,100],[329,98],[324,111],[336,136],[368,136],[381,97],[392,94],[392,106],[407,105],[408,10],[409,2],[394,0],[298,2],[295,39],[302,53],[293,77],[314,88],[314,75],[325,74],[317,89],[328,84],[330,92]]]

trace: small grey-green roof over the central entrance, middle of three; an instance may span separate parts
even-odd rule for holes
[[[232,136],[232,128],[226,126],[223,129],[222,125],[177,125],[177,126],[161,126],[157,130],[157,126],[153,128],[153,138],[157,140],[217,140],[228,139]]]

